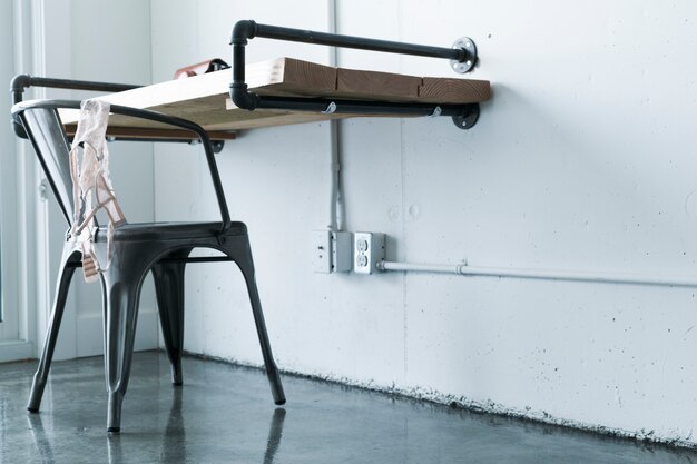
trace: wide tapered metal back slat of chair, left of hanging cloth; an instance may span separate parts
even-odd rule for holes
[[[56,108],[28,108],[20,115],[41,167],[68,224],[72,223],[75,204],[70,177],[70,146]]]

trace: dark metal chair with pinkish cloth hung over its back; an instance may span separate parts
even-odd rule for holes
[[[76,205],[72,198],[72,180],[68,158],[70,148],[58,113],[60,108],[79,109],[80,102],[71,100],[24,101],[12,107],[12,117],[16,122],[23,126],[29,136],[60,208],[68,224],[70,224]],[[107,431],[120,431],[121,402],[128,386],[140,288],[150,270],[155,279],[165,346],[171,362],[171,382],[175,385],[181,384],[184,270],[186,264],[192,261],[232,260],[242,270],[252,302],[252,310],[274,402],[284,404],[283,386],[272,355],[255,283],[247,228],[243,223],[232,221],[229,218],[208,135],[194,122],[158,112],[120,106],[111,106],[111,112],[175,126],[195,134],[205,149],[222,220],[214,223],[126,224],[115,229],[111,244],[111,264],[107,270],[100,274],[104,299],[105,369],[109,394]],[[105,228],[97,230],[95,247],[98,255],[104,256],[106,254],[107,233]],[[198,247],[216,249],[222,251],[224,256],[208,259],[189,257],[190,251]],[[56,299],[46,343],[27,405],[30,412],[39,411],[68,288],[75,269],[81,265],[80,258],[79,245],[67,240],[63,245]]]

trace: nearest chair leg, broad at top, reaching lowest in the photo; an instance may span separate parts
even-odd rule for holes
[[[107,432],[118,433],[121,430],[121,403],[128,387],[136,338],[140,275],[136,276],[136,269],[129,269],[131,275],[126,277],[112,269],[108,270],[109,276],[105,278],[105,371],[109,394]]]

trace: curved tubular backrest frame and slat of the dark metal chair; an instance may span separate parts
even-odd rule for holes
[[[75,100],[28,100],[12,107],[12,118],[20,122],[39,157],[43,171],[53,189],[68,224],[72,224],[75,204],[72,179],[70,177],[70,146],[58,115],[59,108],[79,109],[80,101]],[[111,112],[131,118],[147,119],[186,129],[194,132],[206,151],[206,161],[217,197],[222,218],[222,231],[227,230],[232,220],[220,182],[218,167],[208,134],[195,122],[163,115],[155,111],[111,105]]]

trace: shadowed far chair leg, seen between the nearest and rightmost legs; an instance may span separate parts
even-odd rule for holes
[[[184,269],[186,263],[159,263],[153,266],[157,309],[167,356],[171,363],[171,383],[181,385],[184,352]]]

